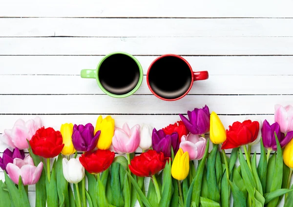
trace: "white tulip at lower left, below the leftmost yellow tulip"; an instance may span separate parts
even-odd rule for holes
[[[79,157],[71,158],[69,161],[63,158],[63,175],[69,183],[79,183],[84,179],[84,166],[79,161]]]

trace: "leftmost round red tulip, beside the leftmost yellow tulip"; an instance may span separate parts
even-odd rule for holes
[[[63,149],[63,139],[60,131],[53,128],[40,128],[29,141],[33,153],[44,158],[53,158],[60,154]]]

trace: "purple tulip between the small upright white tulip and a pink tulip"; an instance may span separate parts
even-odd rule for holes
[[[156,150],[158,153],[163,152],[165,157],[171,157],[171,147],[173,148],[174,154],[176,154],[179,149],[180,143],[177,132],[166,135],[162,129],[157,131],[154,128],[151,139],[153,150]]]

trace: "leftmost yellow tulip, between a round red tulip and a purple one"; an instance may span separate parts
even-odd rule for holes
[[[69,156],[75,153],[75,148],[72,144],[72,132],[73,132],[73,124],[62,124],[60,132],[63,138],[64,147],[61,151],[63,155]]]

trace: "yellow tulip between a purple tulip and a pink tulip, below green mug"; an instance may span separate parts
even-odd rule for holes
[[[95,127],[95,134],[101,130],[99,141],[97,144],[98,149],[108,149],[112,144],[112,138],[114,136],[115,121],[111,116],[107,116],[105,119],[100,115],[97,119]]]

